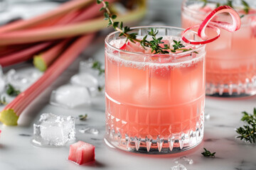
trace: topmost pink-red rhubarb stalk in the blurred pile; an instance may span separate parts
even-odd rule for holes
[[[53,11],[45,13],[41,16],[37,16],[35,18],[31,18],[30,20],[24,21],[16,21],[14,23],[10,23],[6,26],[0,28],[0,33],[6,33],[13,30],[21,30],[24,28],[29,28],[31,26],[36,26],[40,23],[45,23],[49,20],[52,20],[55,17],[61,17],[63,14],[68,13],[68,11],[73,10],[75,8],[80,8],[81,6],[87,6],[91,3],[95,2],[95,0],[72,0],[68,1],[65,4],[59,6]]]

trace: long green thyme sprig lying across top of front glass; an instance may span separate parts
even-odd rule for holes
[[[150,31],[148,31],[148,35],[151,36],[152,40],[147,40],[146,38],[148,35],[145,35],[142,40],[137,39],[137,33],[128,33],[131,31],[131,28],[128,26],[124,26],[122,22],[114,22],[114,19],[117,18],[116,15],[112,14],[109,8],[109,3],[104,0],[97,0],[97,4],[103,4],[102,8],[100,8],[100,11],[105,10],[104,16],[105,20],[109,21],[107,27],[112,26],[114,30],[119,31],[119,37],[124,36],[127,38],[127,40],[130,40],[131,42],[139,42],[140,45],[146,50],[147,47],[151,49],[151,52],[154,52],[154,54],[168,54],[169,51],[176,52],[176,50],[181,50],[182,52],[186,52],[193,49],[186,49],[182,48],[185,47],[181,44],[181,41],[174,41],[174,48],[171,48],[170,45],[164,45],[161,46],[164,42],[161,41],[163,38],[156,38],[156,35],[159,33],[158,30],[151,28]]]

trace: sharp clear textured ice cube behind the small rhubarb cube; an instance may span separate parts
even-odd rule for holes
[[[33,144],[60,147],[75,140],[75,118],[43,113],[33,125]]]

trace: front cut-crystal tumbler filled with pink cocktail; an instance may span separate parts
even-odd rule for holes
[[[181,40],[183,29],[154,27],[158,36]],[[133,28],[138,38],[149,27]],[[188,38],[199,40],[190,31]],[[154,55],[119,50],[124,37],[105,39],[105,142],[129,152],[170,154],[203,139],[205,45],[192,51]],[[171,44],[172,45],[172,44]]]

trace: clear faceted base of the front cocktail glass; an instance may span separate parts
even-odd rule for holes
[[[175,154],[196,147],[202,140],[203,125],[187,134],[171,134],[167,138],[129,137],[127,134],[122,137],[119,132],[111,130],[108,130],[105,135],[107,145],[141,154]]]

